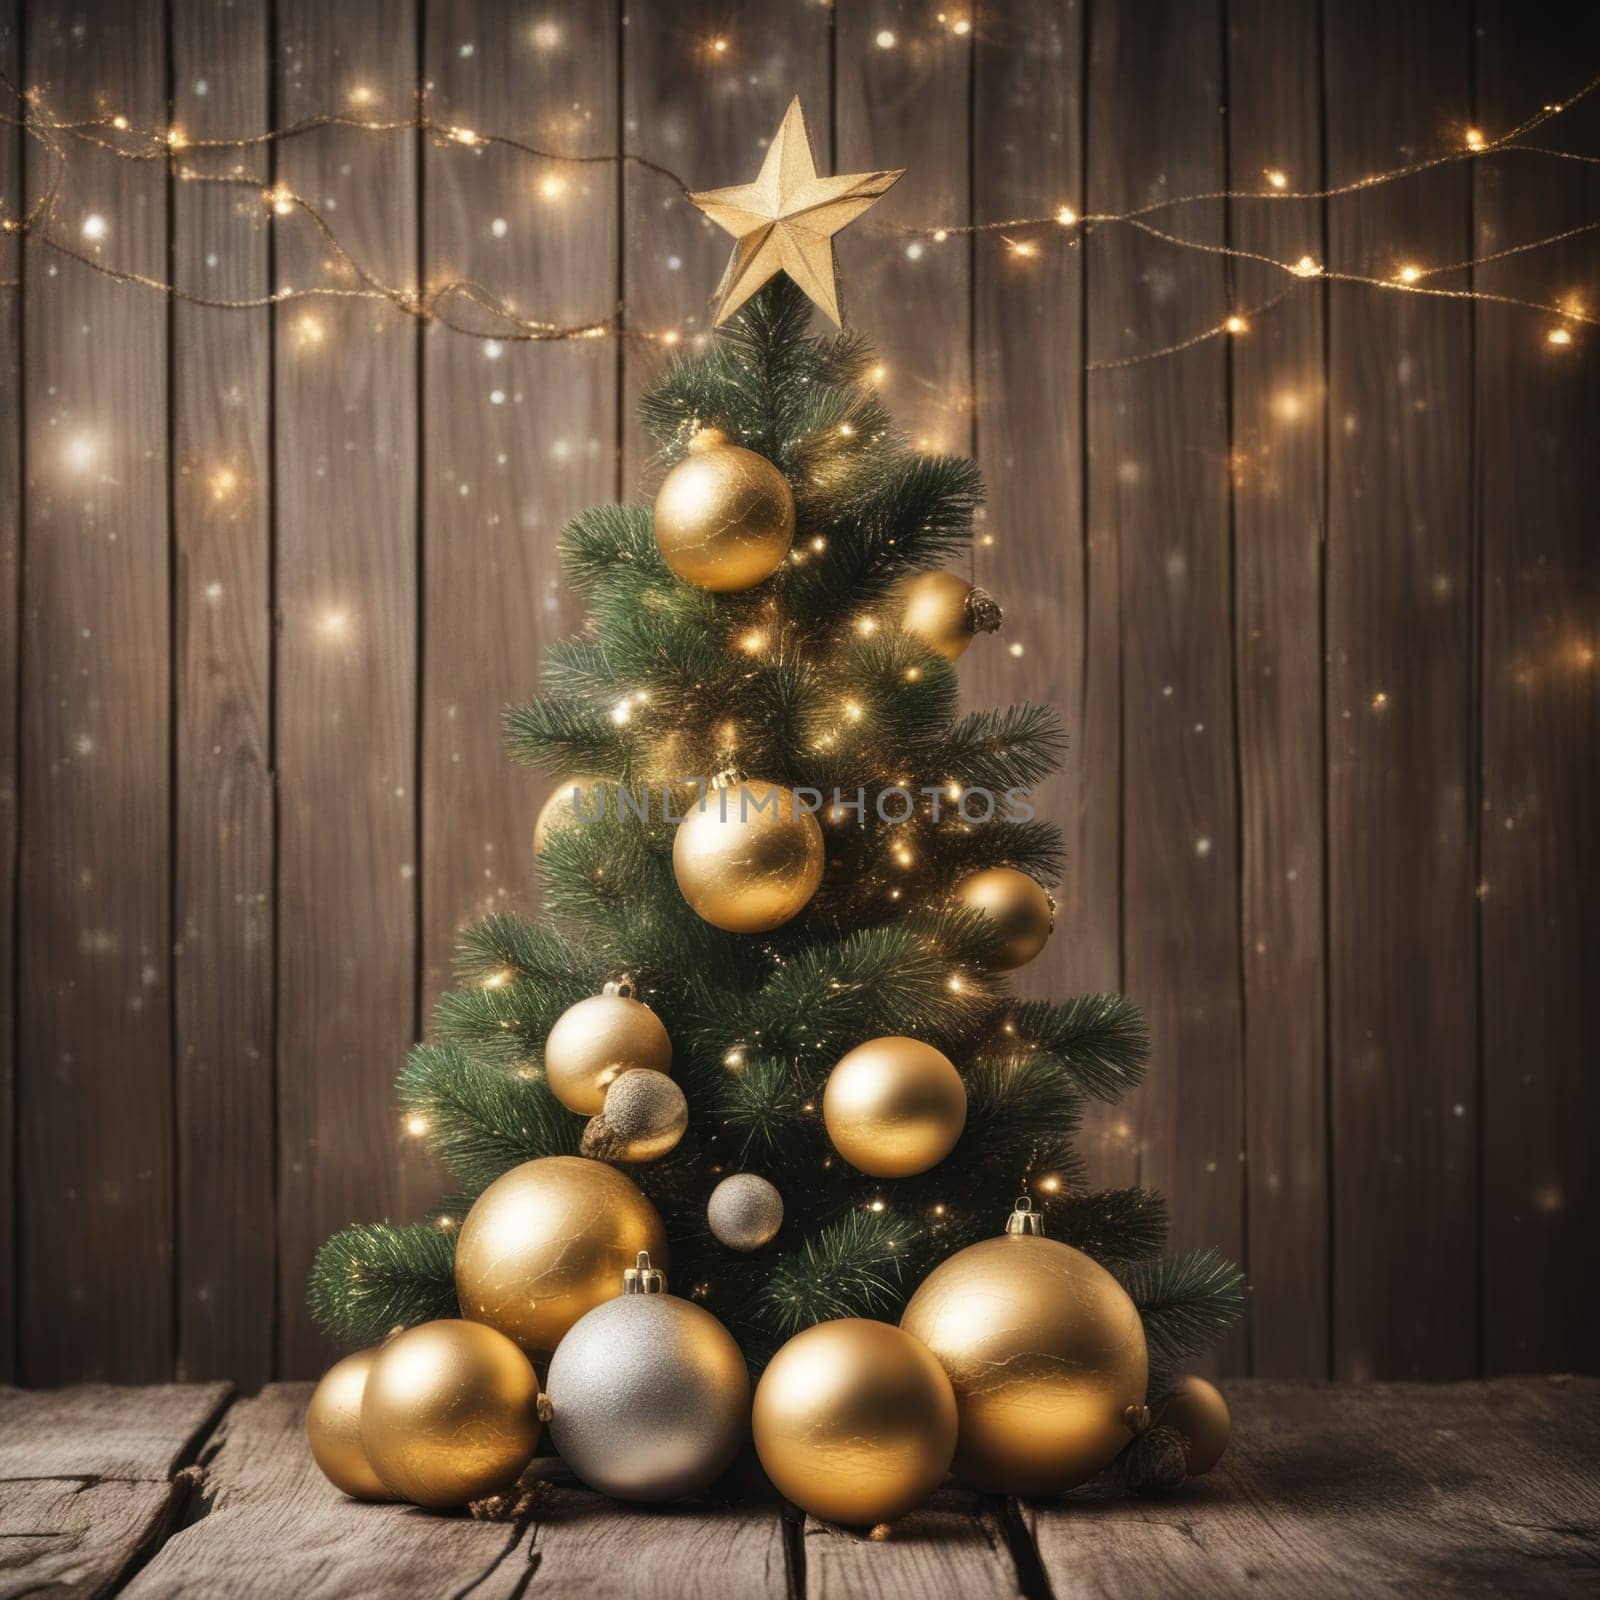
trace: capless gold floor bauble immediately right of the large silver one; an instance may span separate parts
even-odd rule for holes
[[[755,1387],[755,1453],[827,1522],[904,1517],[950,1470],[955,1395],[928,1350],[886,1322],[845,1317],[797,1333]]]

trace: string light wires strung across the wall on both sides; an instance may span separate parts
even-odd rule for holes
[[[40,96],[34,91],[19,90],[8,78],[0,77],[0,86],[10,91],[14,99],[21,104],[22,114],[14,115],[11,112],[0,112],[0,123],[14,126],[21,130],[27,138],[35,139],[42,144],[51,155],[51,173],[45,184],[42,194],[27,206],[27,210],[16,216],[0,219],[0,229],[6,234],[26,234],[35,237],[42,245],[62,254],[78,264],[88,267],[93,272],[99,272],[104,277],[112,278],[118,283],[130,283],[141,288],[152,290],[160,294],[171,296],[174,299],[184,301],[194,306],[203,306],[216,310],[258,310],[269,306],[283,306],[293,301],[302,299],[363,299],[363,301],[386,301],[394,306],[398,312],[408,317],[422,318],[429,322],[438,322],[442,326],[450,328],[454,333],[461,333],[469,338],[478,339],[512,339],[512,341],[579,341],[579,339],[629,339],[642,344],[662,344],[674,346],[680,341],[682,334],[677,330],[664,330],[651,333],[648,330],[634,328],[624,323],[621,307],[613,309],[613,312],[603,318],[594,318],[579,323],[557,323],[546,322],[534,317],[526,317],[518,312],[507,299],[496,294],[485,285],[470,278],[450,278],[430,288],[410,288],[394,283],[387,283],[378,274],[365,267],[355,254],[342,243],[338,232],[312,202],[304,195],[299,195],[283,184],[277,184],[272,189],[261,190],[262,203],[274,216],[304,216],[309,224],[318,232],[318,235],[326,243],[331,251],[333,261],[336,262],[336,270],[347,272],[354,280],[354,286],[341,286],[336,283],[330,285],[310,285],[301,288],[280,288],[267,294],[250,296],[242,299],[230,299],[221,296],[208,296],[192,290],[184,290],[176,283],[170,283],[152,274],[136,272],[128,267],[118,267],[107,261],[102,261],[98,254],[77,246],[69,238],[62,237],[59,227],[53,226],[59,218],[61,198],[66,192],[70,157],[66,147],[67,139],[77,141],[94,149],[104,150],[118,160],[131,162],[165,162],[173,170],[179,181],[186,182],[213,182],[226,186],[238,186],[246,189],[258,189],[259,184],[254,179],[246,179],[234,174],[213,174],[202,173],[186,165],[176,165],[184,157],[197,152],[222,152],[222,150],[246,150],[256,149],[266,144],[282,142],[286,139],[302,138],[309,133],[326,128],[349,128],[360,133],[371,134],[390,134],[390,133],[422,133],[434,139],[440,147],[448,147],[451,144],[462,146],[466,149],[506,149],[518,155],[539,160],[539,162],[560,162],[568,165],[584,165],[584,166],[614,166],[629,165],[642,171],[651,173],[653,176],[662,179],[672,186],[680,197],[690,194],[690,186],[669,166],[661,162],[654,162],[650,157],[638,155],[634,152],[603,154],[603,155],[570,155],[558,150],[549,150],[541,146],[531,144],[525,139],[517,139],[509,134],[501,133],[482,133],[475,128],[467,128],[458,123],[448,123],[437,120],[427,109],[426,96],[418,96],[418,110],[411,117],[354,117],[347,112],[317,112],[307,117],[301,117],[282,128],[262,130],[250,134],[229,134],[229,136],[190,136],[179,128],[141,128],[134,126],[126,117],[102,114],[90,118],[78,120],[58,120],[45,114],[42,109]],[[1278,269],[1290,274],[1296,282],[1290,283],[1285,290],[1277,294],[1269,296],[1259,304],[1240,310],[1234,307],[1229,314],[1218,322],[1206,325],[1187,338],[1176,339],[1170,344],[1163,344],[1158,349],[1142,350],[1134,355],[1123,357],[1120,360],[1101,360],[1090,362],[1088,368],[1091,371],[1104,371],[1114,368],[1126,368],[1144,365],[1146,362],[1162,360],[1170,355],[1176,355],[1182,350],[1194,349],[1198,344],[1205,344],[1210,339],[1237,334],[1250,326],[1250,322],[1256,317],[1264,315],[1275,306],[1278,306],[1288,294],[1293,293],[1299,283],[1314,282],[1333,282],[1333,283],[1350,283],[1363,288],[1382,290],[1387,293],[1403,293],[1403,294],[1421,294],[1435,299],[1454,299],[1454,301],[1478,301],[1488,304],[1499,304],[1514,307],[1518,310],[1538,312],[1547,317],[1560,318],[1563,328],[1571,328],[1576,325],[1594,326],[1600,322],[1600,317],[1586,312],[1581,306],[1573,301],[1566,302],[1546,302],[1528,299],[1515,294],[1502,294],[1494,290],[1482,288],[1451,288],[1448,285],[1440,285],[1437,280],[1446,274],[1466,272],[1474,267],[1486,266],[1494,261],[1502,261],[1509,256],[1526,254],[1538,250],[1546,250],[1558,245],[1565,240],[1578,238],[1581,235],[1590,234],[1600,229],[1600,218],[1586,219],[1571,227],[1560,229],[1558,232],[1546,234],[1539,238],[1525,240],[1520,243],[1507,245],[1499,250],[1485,253],[1482,256],[1474,256],[1466,261],[1450,262],[1438,267],[1413,267],[1406,266],[1397,274],[1378,275],[1371,272],[1354,272],[1346,269],[1333,269],[1325,264],[1312,261],[1309,256],[1299,261],[1290,262],[1282,261],[1275,256],[1264,254],[1261,251],[1246,250],[1238,245],[1221,245],[1208,240],[1187,238],[1182,234],[1173,232],[1170,227],[1160,227],[1149,221],[1152,216],[1162,211],[1171,211],[1189,205],[1198,203],[1240,203],[1240,202],[1326,202],[1338,200],[1347,195],[1362,194],[1370,189],[1376,189],[1386,184],[1398,182],[1405,178],[1413,178],[1419,173],[1427,173],[1440,166],[1451,165],[1462,160],[1480,160],[1486,155],[1498,154],[1523,154],[1538,155],[1549,158],[1563,160],[1579,160],[1586,163],[1600,163],[1600,155],[1589,155],[1582,152],[1568,152],[1550,149],[1546,146],[1533,146],[1522,142],[1525,134],[1534,131],[1536,128],[1552,122],[1554,118],[1571,110],[1573,106],[1587,99],[1595,90],[1600,90],[1600,75],[1590,78],[1576,93],[1570,94],[1563,101],[1547,102],[1539,107],[1533,115],[1523,118],[1514,128],[1507,130],[1498,138],[1488,138],[1475,128],[1469,128],[1462,144],[1458,149],[1440,152],[1438,155],[1426,157],[1421,160],[1408,162],[1402,166],[1395,166],[1389,171],[1371,173],[1365,178],[1352,179],[1342,184],[1333,184],[1323,189],[1291,189],[1288,182],[1278,182],[1282,173],[1272,171],[1267,179],[1266,189],[1213,189],[1200,190],[1195,194],[1184,195],[1162,195],[1155,200],[1146,202],[1144,205],[1133,206],[1125,211],[1086,211],[1078,213],[1069,205],[1053,205],[1050,213],[1040,216],[1018,216],[1005,218],[986,222],[883,222],[883,224],[867,224],[880,234],[899,234],[902,237],[914,235],[918,240],[926,238],[933,243],[942,243],[954,237],[971,237],[971,235],[987,235],[1000,234],[1003,243],[1011,256],[1022,261],[1032,259],[1040,254],[1040,245],[1029,238],[1014,238],[1011,235],[1022,229],[1050,229],[1056,232],[1070,232],[1072,243],[1077,245],[1086,232],[1096,227],[1133,227],[1149,238],[1165,243],[1174,250],[1182,251],[1198,251],[1208,256],[1222,256],[1235,261],[1253,261],[1261,266]],[[0,280],[0,288],[16,288],[16,278]],[[470,307],[478,317],[485,320],[486,325],[480,325],[477,317],[469,318],[466,315],[466,307]],[[1568,331],[1568,339],[1571,336]]]

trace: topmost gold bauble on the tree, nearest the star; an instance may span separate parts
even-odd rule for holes
[[[714,427],[690,440],[656,493],[656,544],[667,566],[699,589],[754,589],[778,571],[794,536],[789,480]]]

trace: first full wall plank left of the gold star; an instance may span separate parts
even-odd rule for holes
[[[571,155],[616,150],[618,18],[547,6],[512,27],[504,6],[434,3],[426,26],[435,114]],[[504,149],[430,147],[424,266],[538,314],[614,309],[618,173]],[[462,307],[466,309],[466,307]],[[499,331],[483,320],[485,331]],[[422,926],[424,1005],[450,986],[458,930],[538,894],[538,779],[512,766],[501,709],[536,688],[544,650],[576,629],[557,555],[562,525],[613,496],[616,347],[424,341]],[[424,1013],[426,1014],[426,1013]]]

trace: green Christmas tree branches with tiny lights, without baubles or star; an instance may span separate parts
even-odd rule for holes
[[[546,1042],[624,974],[664,1024],[688,1102],[670,1152],[626,1170],[664,1219],[677,1285],[752,1362],[826,1318],[896,1317],[1019,1194],[1046,1203],[1051,1237],[1123,1280],[1157,1371],[1240,1310],[1235,1269],[1206,1251],[1162,1254],[1155,1194],[1085,1187],[1080,1109],[1139,1080],[1138,1008],[1118,995],[1016,1000],[1005,918],[1027,923],[1026,890],[1018,907],[990,906],[1000,922],[958,893],[990,869],[1037,883],[1061,872],[1059,834],[1026,802],[1061,760],[1061,726],[1029,704],[957,712],[947,658],[992,611],[962,579],[910,598],[907,581],[960,562],[978,470],[907,450],[867,382],[869,346],[813,338],[810,314],[794,283],[773,282],[640,406],[666,466],[706,450],[714,429],[782,474],[794,539],[770,578],[728,592],[682,581],[645,504],[595,507],[563,534],[589,626],[550,650],[546,693],[507,715],[512,752],[562,779],[566,826],[546,826],[539,851],[549,920],[491,917],[462,939],[461,987],[400,1074],[410,1125],[461,1194],[430,1221],[330,1240],[310,1299],[341,1341],[456,1314],[453,1221],[512,1166],[579,1152],[587,1120],[552,1091]],[[709,448],[726,446],[712,434]],[[715,819],[730,792],[696,776],[730,771],[746,789],[819,797],[800,803],[819,805],[821,882],[762,933],[709,922],[674,874],[678,819]],[[770,888],[741,883],[734,866],[706,893],[738,902]],[[851,1050],[894,1037],[960,1069],[966,1117],[936,1165],[877,1178],[834,1147],[824,1086]],[[757,1253],[707,1226],[712,1190],[734,1173],[782,1200],[782,1227]]]

